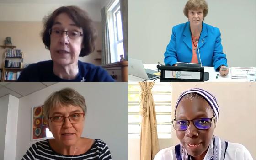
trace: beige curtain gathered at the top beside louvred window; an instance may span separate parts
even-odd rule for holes
[[[159,151],[159,144],[156,129],[155,104],[151,89],[154,82],[139,82],[140,91],[140,111],[141,138],[140,138],[140,159],[153,160]]]

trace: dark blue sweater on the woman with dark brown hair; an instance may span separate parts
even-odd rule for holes
[[[78,61],[79,73],[73,80],[61,79],[53,73],[53,61],[42,61],[30,64],[22,72],[17,81],[21,82],[113,82],[115,81],[100,66]]]

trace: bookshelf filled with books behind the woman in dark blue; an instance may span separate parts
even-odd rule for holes
[[[16,46],[0,46],[5,49],[5,62],[2,71],[1,81],[16,81],[21,75],[23,53]]]

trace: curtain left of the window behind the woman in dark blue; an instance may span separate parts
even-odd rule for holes
[[[101,52],[102,59],[101,59],[101,64],[103,65],[103,64],[111,63],[106,7],[101,9],[101,21],[102,21],[102,52]]]

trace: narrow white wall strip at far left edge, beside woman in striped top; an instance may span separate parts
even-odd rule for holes
[[[0,98],[0,160],[4,159],[5,154],[5,134],[7,123],[9,95]]]

